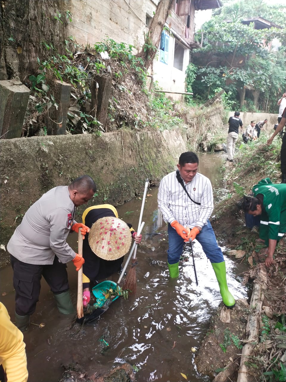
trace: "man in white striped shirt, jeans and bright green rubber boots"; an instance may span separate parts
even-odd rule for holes
[[[206,176],[197,172],[198,164],[199,159],[194,152],[184,152],[180,155],[177,172],[164,176],[159,186],[158,206],[163,219],[168,222],[167,262],[170,277],[179,275],[179,260],[184,242],[196,238],[210,259],[219,282],[223,303],[231,307],[234,306],[235,299],[228,290],[222,250],[217,245],[209,221],[214,209],[212,185]],[[187,233],[186,227],[191,228],[190,233]]]

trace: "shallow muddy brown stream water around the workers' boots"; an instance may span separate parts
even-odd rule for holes
[[[220,174],[225,155],[202,154],[199,159],[199,172],[210,178],[218,200],[227,192]],[[185,380],[180,373],[191,382],[210,381],[209,377],[196,371],[195,353],[191,352],[191,347],[198,348],[206,334],[209,319],[221,301],[219,286],[210,262],[196,241],[193,249],[198,286],[190,244],[185,246],[179,278],[169,279],[167,228],[157,210],[157,188],[149,189],[148,194],[151,196],[146,197],[143,214],[142,241],[145,245],[144,249],[139,246],[137,251],[137,297],[127,301],[119,298],[99,320],[84,327],[72,326],[73,317],[58,313],[53,295],[42,280],[40,301],[31,317],[33,324],[24,332],[29,382],[56,382],[63,373],[61,365],[71,362],[78,363],[88,375],[95,372],[103,374],[112,366],[129,362],[139,370],[137,381]],[[119,217],[132,223],[135,229],[141,202],[137,197],[117,208]],[[68,242],[76,249],[77,235],[70,235]],[[247,290],[241,285],[245,266],[235,264],[227,257],[225,261],[228,286],[234,297],[247,297]],[[77,272],[73,264],[68,264],[67,269],[76,306]],[[117,281],[118,278],[116,274],[112,280]],[[3,292],[6,295],[2,296]],[[0,298],[14,321],[10,265],[0,269]],[[42,322],[45,323],[42,329],[35,325]],[[99,341],[102,336],[109,346]]]

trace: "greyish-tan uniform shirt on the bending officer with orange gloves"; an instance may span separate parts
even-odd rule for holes
[[[55,254],[62,263],[71,261],[76,253],[66,238],[76,223],[74,213],[67,186],[52,188],[27,210],[7,245],[9,253],[27,264],[53,264]]]

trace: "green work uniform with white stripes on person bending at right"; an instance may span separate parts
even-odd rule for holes
[[[277,240],[286,232],[286,184],[273,184],[269,178],[260,180],[252,188],[254,197],[262,194],[259,237],[268,246],[269,239]]]

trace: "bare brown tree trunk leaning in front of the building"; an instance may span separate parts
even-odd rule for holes
[[[173,0],[160,0],[155,15],[151,21],[149,32],[145,36],[145,44],[143,45],[141,52],[137,55],[137,57],[141,57],[144,61],[146,69],[149,68],[157,53],[162,30],[169,16],[172,3]]]

